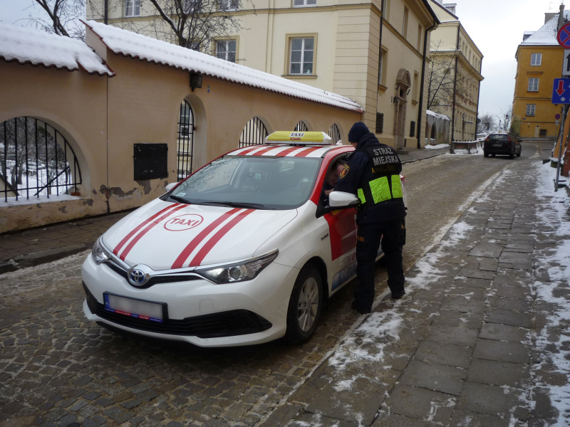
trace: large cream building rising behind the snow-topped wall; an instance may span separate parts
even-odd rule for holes
[[[175,42],[150,29],[163,25],[150,2],[108,1],[111,25]],[[88,19],[102,21],[103,0],[92,2]],[[208,53],[356,100],[385,144],[424,144],[424,51],[437,26],[427,0],[254,0],[254,9],[243,3],[246,10],[231,13],[247,31],[214,41]]]

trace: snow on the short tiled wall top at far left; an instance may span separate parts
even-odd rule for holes
[[[115,75],[81,40],[6,23],[0,23],[0,58],[46,68],[74,71],[81,67],[89,74]]]

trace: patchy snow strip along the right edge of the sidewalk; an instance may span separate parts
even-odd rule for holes
[[[537,176],[537,195],[544,198],[544,204],[537,206],[537,216],[539,223],[554,224],[555,236],[566,236],[556,248],[544,251],[540,257],[539,264],[549,265],[548,274],[551,284],[535,283],[537,289],[537,302],[542,301],[556,307],[547,317],[547,327],[542,328],[537,335],[537,349],[544,357],[538,369],[544,363],[554,364],[557,372],[570,377],[570,331],[566,325],[570,321],[570,300],[564,296],[559,285],[570,283],[570,201],[564,189],[554,192],[554,179],[556,179],[556,169],[549,164],[537,166],[535,173]],[[563,289],[564,290],[564,289]],[[554,334],[554,328],[559,334]],[[554,347],[554,349],[553,349]],[[541,378],[537,378],[537,386],[541,389],[548,389],[551,404],[559,411],[556,424],[553,426],[568,426],[568,411],[570,408],[570,384],[568,382],[562,386],[544,384]]]

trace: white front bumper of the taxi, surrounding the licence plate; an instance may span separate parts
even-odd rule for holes
[[[97,265],[91,256],[81,273],[87,296],[83,312],[88,320],[200,347],[229,347],[268,342],[285,334],[289,297],[299,270],[271,263],[254,280],[226,285],[187,280],[147,289],[134,288],[108,265]],[[165,303],[167,317],[152,322],[108,312],[105,292]]]

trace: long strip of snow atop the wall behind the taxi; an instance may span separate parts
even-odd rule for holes
[[[192,51],[104,23],[96,21],[83,21],[83,23],[99,36],[105,46],[115,54],[131,56],[182,70],[195,71],[232,83],[332,105],[345,110],[363,112],[356,101],[336,93],[297,83],[277,75],[254,70],[244,65],[231,63],[205,53]]]

